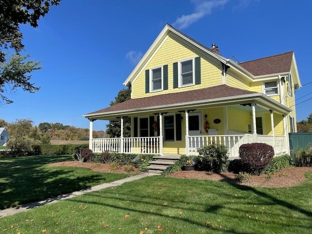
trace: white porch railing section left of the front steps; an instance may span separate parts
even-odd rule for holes
[[[95,138],[92,139],[92,151],[159,154],[159,137]]]

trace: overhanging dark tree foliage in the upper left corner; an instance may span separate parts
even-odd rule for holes
[[[41,68],[40,62],[24,61],[29,55],[21,56],[24,49],[20,24],[38,27],[38,20],[44,17],[50,6],[60,0],[0,0],[0,99],[7,104],[13,101],[3,93],[16,92],[18,87],[34,93],[39,90],[30,82],[31,73]],[[15,51],[7,57],[8,49]]]

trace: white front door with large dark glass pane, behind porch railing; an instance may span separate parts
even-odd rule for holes
[[[201,137],[192,137],[192,136],[201,136],[201,113],[190,113],[189,114],[189,147],[192,151],[200,147],[200,138]]]

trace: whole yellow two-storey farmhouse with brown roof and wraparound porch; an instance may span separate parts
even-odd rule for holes
[[[124,85],[130,100],[84,115],[95,153],[195,155],[203,145],[224,144],[235,158],[252,142],[289,153],[301,85],[293,52],[237,64],[215,44],[208,48],[167,24]],[[92,138],[93,121],[119,119],[121,137]],[[131,137],[123,136],[124,121],[131,121]]]

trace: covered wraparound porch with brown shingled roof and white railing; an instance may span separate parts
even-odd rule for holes
[[[287,113],[290,110],[256,92],[227,85],[136,98],[85,115],[93,121],[121,121],[121,137],[93,139],[93,152],[196,155],[208,144],[224,144],[238,157],[244,143],[267,143],[275,155],[289,152]],[[286,114],[285,114],[286,113]],[[131,137],[123,137],[123,122],[131,121]]]

